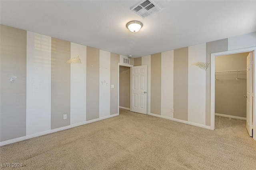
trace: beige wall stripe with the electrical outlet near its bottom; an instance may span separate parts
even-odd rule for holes
[[[70,125],[70,42],[52,38],[51,129]],[[63,119],[63,115],[67,119]]]

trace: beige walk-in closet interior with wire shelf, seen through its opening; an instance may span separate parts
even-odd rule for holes
[[[250,52],[215,57],[215,128],[248,135],[246,61]]]

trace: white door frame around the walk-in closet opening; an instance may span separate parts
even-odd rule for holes
[[[256,47],[251,48],[243,48],[238,50],[230,50],[224,52],[216,52],[211,54],[211,66],[210,66],[210,118],[211,124],[210,129],[215,129],[215,57],[223,56],[228,54],[237,54],[242,52],[253,52],[252,60],[253,60],[253,104],[252,104],[252,116],[253,116],[253,139],[256,140],[256,100],[254,100],[254,95],[256,92]]]

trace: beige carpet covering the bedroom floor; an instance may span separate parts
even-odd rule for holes
[[[120,116],[2,146],[0,161],[22,163],[17,170],[256,170],[256,141],[230,130],[236,122],[245,128],[216,117],[213,131],[121,109]]]

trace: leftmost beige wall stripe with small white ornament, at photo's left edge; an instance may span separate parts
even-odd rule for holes
[[[0,141],[26,136],[27,32],[1,25]],[[10,83],[9,76],[16,76]]]

